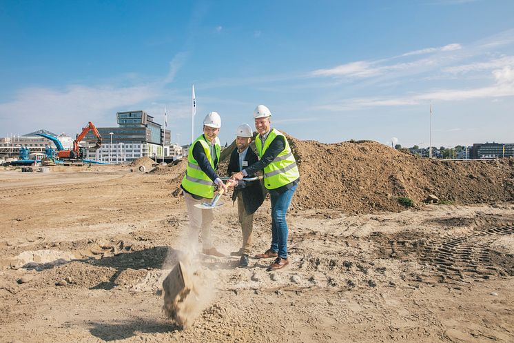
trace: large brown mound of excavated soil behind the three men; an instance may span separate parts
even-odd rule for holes
[[[291,208],[336,208],[346,213],[399,211],[398,198],[420,204],[431,195],[451,204],[509,202],[514,199],[514,159],[444,161],[424,159],[376,141],[322,144],[287,135],[300,170]],[[220,161],[225,175],[230,152]],[[185,159],[184,159],[185,160]],[[168,168],[180,187],[185,161]],[[176,193],[178,194],[178,193]]]

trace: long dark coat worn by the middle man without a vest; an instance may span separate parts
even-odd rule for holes
[[[256,161],[258,161],[258,157],[256,153],[254,153],[254,150],[251,150],[250,147],[248,147],[248,151],[245,156],[245,161],[248,162],[248,166],[251,166]],[[245,167],[243,167],[244,169]],[[238,149],[235,148],[234,151],[232,151],[232,154],[230,154],[230,161],[229,166],[227,168],[227,173],[229,176],[232,175],[232,173],[237,173],[239,170],[239,153]],[[248,175],[248,177],[254,177],[254,175]],[[234,194],[232,194],[232,201],[236,200],[236,197],[238,193],[241,192],[243,194],[243,204],[245,204],[245,210],[246,213],[249,215],[251,213],[254,213],[257,208],[260,207],[260,205],[264,202],[264,193],[263,188],[260,185],[260,181],[243,181],[241,180],[238,185],[234,188]]]

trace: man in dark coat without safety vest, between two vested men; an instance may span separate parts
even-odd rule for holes
[[[228,175],[238,173],[247,166],[251,166],[258,161],[258,157],[254,150],[251,150],[249,144],[253,132],[248,124],[240,125],[236,130],[236,146],[232,151],[228,166]],[[254,177],[254,175],[248,175]],[[234,183],[236,181],[233,181]],[[232,185],[234,186],[234,185]],[[230,253],[232,256],[241,256],[239,266],[248,266],[248,256],[251,253],[252,231],[254,230],[254,212],[264,202],[263,189],[260,181],[243,181],[240,180],[234,186],[234,194],[232,200],[238,202],[238,217],[241,229],[243,230],[243,246],[239,251]]]

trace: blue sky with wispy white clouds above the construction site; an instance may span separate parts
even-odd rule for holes
[[[0,136],[146,110],[172,140],[265,104],[324,143],[514,142],[514,1],[0,0]]]

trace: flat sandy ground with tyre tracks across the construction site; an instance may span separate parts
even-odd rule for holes
[[[187,231],[169,175],[0,171],[0,342],[514,342],[514,206],[291,210],[291,265],[198,256],[194,326],[161,311]],[[236,208],[216,210],[220,251]],[[270,241],[269,200],[255,253]]]

